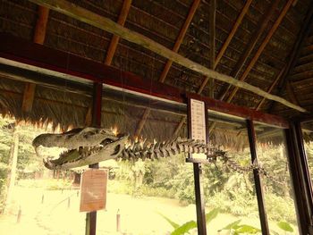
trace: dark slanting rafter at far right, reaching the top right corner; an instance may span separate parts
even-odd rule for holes
[[[297,37],[297,40],[295,41],[293,47],[292,47],[292,52],[291,55],[289,56],[289,61],[286,66],[286,70],[283,72],[282,79],[280,80],[278,84],[278,95],[281,95],[282,91],[285,89],[287,82],[288,82],[288,77],[292,71],[292,68],[297,62],[297,59],[300,56],[300,49],[303,46],[303,41],[304,38],[306,38],[309,34],[309,28],[313,24],[313,1],[310,2],[308,11],[306,13],[305,19],[303,23],[301,24],[301,28]],[[268,111],[272,112],[274,108],[274,103],[272,103],[269,106]]]

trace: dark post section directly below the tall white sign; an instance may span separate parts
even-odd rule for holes
[[[207,234],[206,212],[205,212],[203,189],[201,187],[201,180],[200,180],[201,171],[202,171],[201,164],[194,163],[193,164],[193,176],[195,180],[198,234],[206,235]]]

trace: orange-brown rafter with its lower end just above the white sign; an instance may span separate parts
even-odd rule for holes
[[[223,46],[221,47],[220,51],[218,52],[218,54],[216,55],[216,61],[214,63],[214,70],[216,69],[217,64],[220,62],[220,60],[222,59],[224,52],[226,51],[227,47],[229,46],[229,44],[231,43],[234,34],[236,33],[237,29],[239,28],[241,21],[243,19],[243,17],[245,16],[246,13],[248,13],[250,4],[252,3],[252,0],[248,0],[246,1],[246,3],[244,4],[241,13],[239,14],[239,16],[237,17],[237,20],[235,21],[235,23],[233,24],[233,29],[231,30],[231,32],[229,33],[228,37],[226,38],[226,40],[224,41]],[[199,90],[198,90],[198,94],[201,94],[201,92],[203,91],[203,89],[206,87],[207,85],[207,81],[208,78],[206,77],[205,80],[203,80]]]

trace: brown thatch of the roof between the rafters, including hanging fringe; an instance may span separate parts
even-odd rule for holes
[[[122,0],[72,2],[113,21],[117,21],[123,6]],[[236,64],[245,54],[251,39],[258,34],[260,23],[266,17],[273,2],[267,0],[252,1],[221,61],[217,64],[216,71],[227,75],[233,74]],[[286,2],[282,0],[275,7],[266,28],[256,41],[256,46],[253,47],[246,62],[243,63],[238,72],[237,79],[240,79],[241,74],[256,55],[258,47],[261,46],[271,27],[275,24],[277,16],[282,12]],[[152,38],[163,46],[173,48],[192,3],[191,0],[133,0],[125,27]],[[216,54],[233,29],[234,22],[241,13],[244,4],[245,1],[242,0],[217,1]],[[300,54],[296,56],[287,78],[282,76],[277,80],[277,76],[290,63],[290,58],[294,53],[293,48],[299,44],[301,26],[306,21],[306,14],[311,5],[309,0],[298,0],[296,4],[292,4],[245,80],[263,90],[273,87],[270,91],[272,94],[285,97],[292,102],[296,101],[299,103],[298,105],[309,111],[313,110],[313,80],[311,79],[313,25],[309,26],[309,30],[305,34],[306,37],[300,43]],[[204,0],[199,3],[179,49],[180,55],[205,66],[210,63],[209,9],[210,1]],[[29,41],[34,40],[34,31],[38,21],[38,6],[36,4],[31,4],[26,0],[0,0],[0,16],[0,32]],[[103,63],[106,60],[112,37],[112,34],[102,29],[74,20],[62,13],[50,11],[47,20],[46,39],[43,45]],[[142,46],[120,39],[112,65],[121,71],[131,71],[145,80],[159,80],[166,61],[167,59],[164,57],[156,55]],[[0,73],[1,113],[11,113],[18,119],[28,119],[31,122],[54,122],[55,125],[61,124],[63,128],[70,125],[85,125],[86,114],[92,104],[91,83],[77,84],[60,78],[59,84],[63,85],[56,87],[55,85],[47,85],[48,82],[44,84],[38,81],[32,111],[23,113],[21,104],[25,84],[28,81],[27,77],[38,79],[41,76],[45,80],[48,78],[40,73],[22,71],[3,64],[0,66],[0,71],[2,71]],[[203,76],[199,73],[173,63],[165,83],[191,93],[197,93],[203,80]],[[287,81],[289,89],[285,89],[285,81]],[[227,86],[223,82],[216,81],[215,95],[217,98]],[[233,89],[230,89],[225,97],[231,91]],[[204,88],[202,94],[207,96],[208,87]],[[233,97],[232,103],[257,108],[261,100],[262,97],[240,89]],[[264,105],[260,106],[260,110],[282,114],[285,117],[300,114],[283,105],[273,104],[273,102],[266,100]],[[151,112],[148,115],[147,123],[143,126],[141,135],[148,138],[172,138],[173,132],[186,113],[184,105],[162,104],[161,101],[156,102],[152,98],[147,101],[147,97],[136,97],[109,88],[106,88],[103,97],[103,125],[106,127],[117,125],[121,131],[134,134],[147,107],[151,108]],[[222,130],[218,131],[219,129],[216,128],[212,138],[220,140],[223,138],[224,143],[229,142],[229,145],[236,145],[234,144],[236,141],[229,139],[240,139],[238,145],[242,146],[242,143],[247,142],[246,135],[240,133],[242,127],[244,124],[225,126],[220,123],[219,128]],[[184,124],[180,130],[180,135],[186,136],[186,133],[187,127]],[[221,141],[216,140],[216,142]]]

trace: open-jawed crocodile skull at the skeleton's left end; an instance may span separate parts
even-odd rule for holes
[[[128,136],[116,136],[112,130],[98,128],[73,129],[62,134],[42,134],[32,142],[37,155],[42,147],[61,147],[67,150],[58,159],[44,159],[48,169],[71,169],[114,159],[121,154]]]

